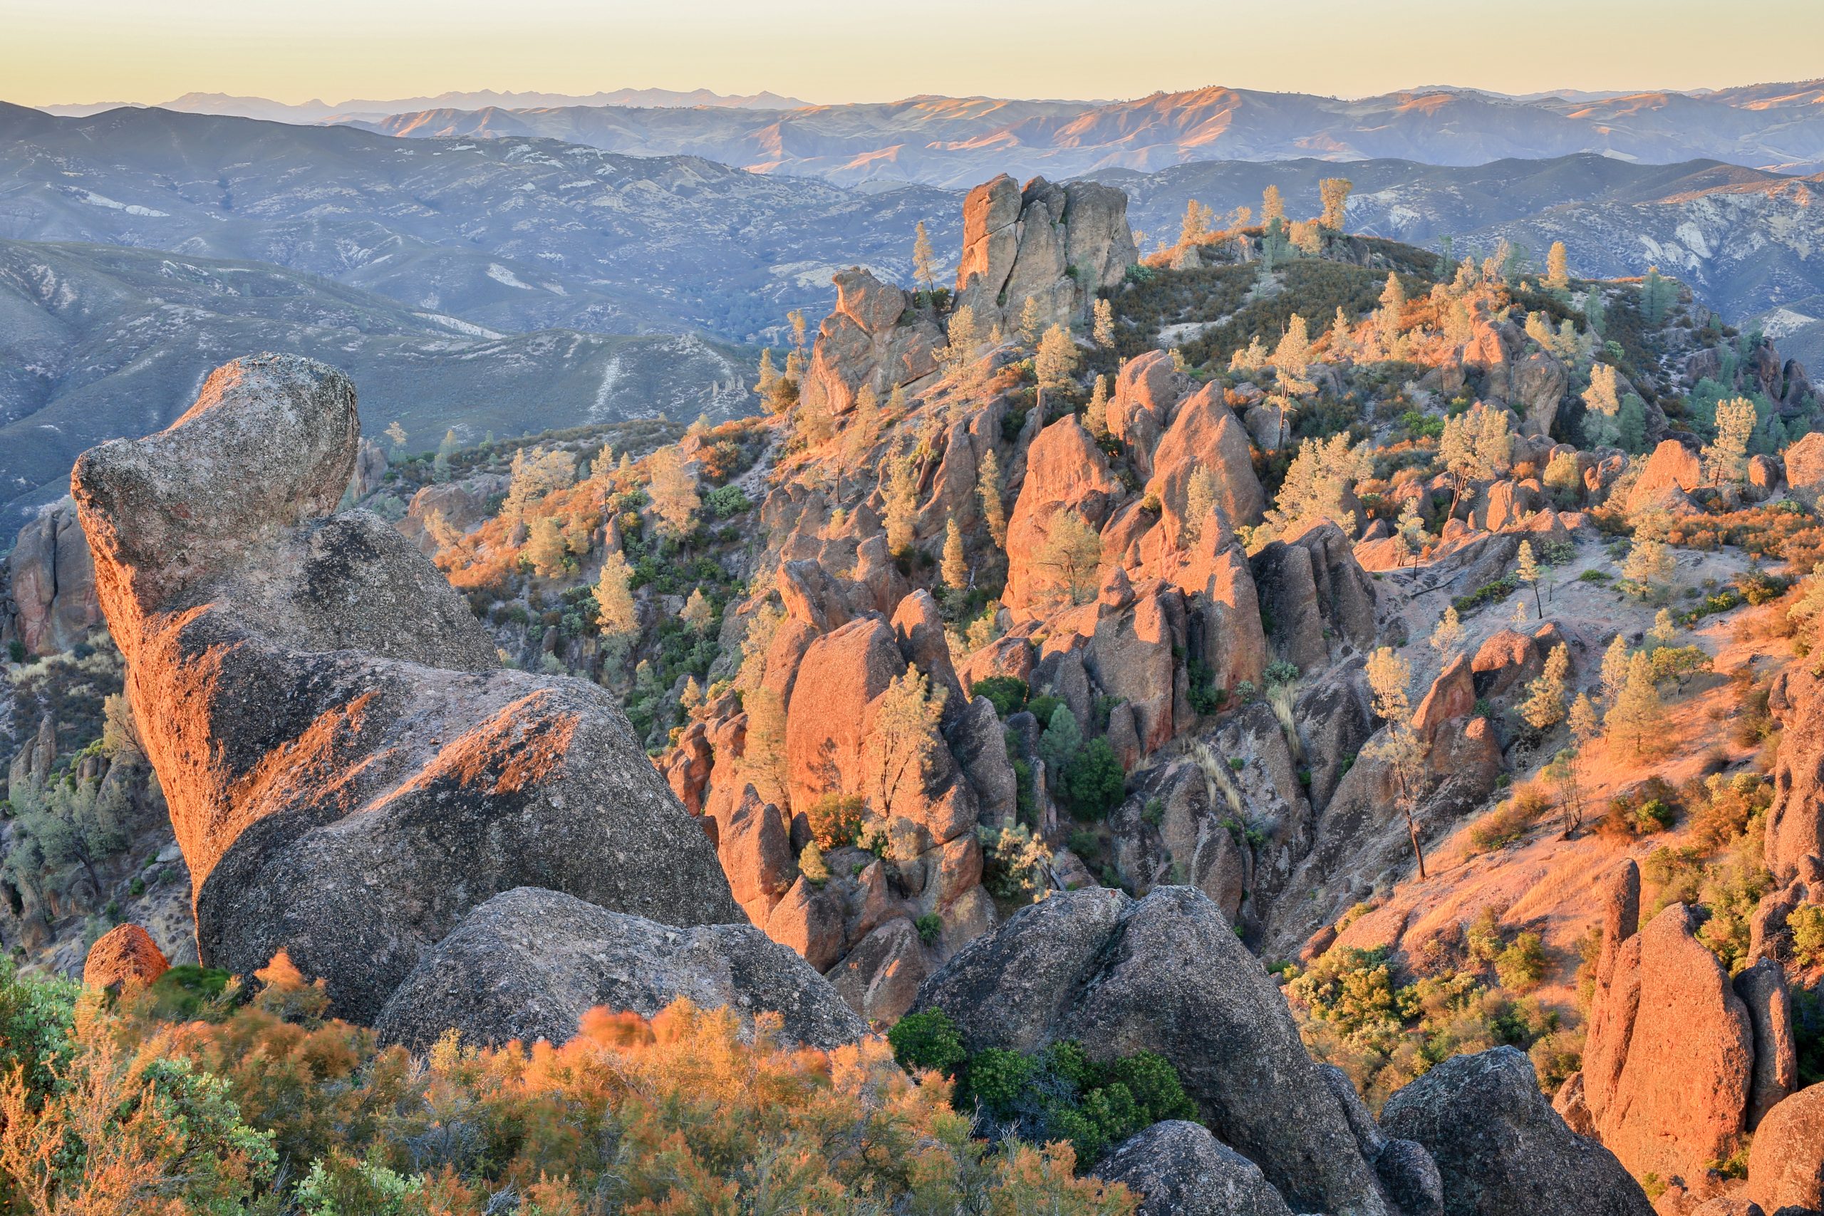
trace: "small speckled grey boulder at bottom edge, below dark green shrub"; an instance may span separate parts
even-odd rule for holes
[[[1124,1139],[1096,1165],[1096,1178],[1140,1196],[1136,1216],[1291,1216],[1259,1165],[1187,1119]]]

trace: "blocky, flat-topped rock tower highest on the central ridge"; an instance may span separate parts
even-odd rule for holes
[[[1124,191],[1043,177],[1020,190],[1003,173],[963,201],[956,303],[974,310],[983,332],[996,323],[1010,330],[1027,299],[1038,301],[1043,325],[1069,325],[1136,257]]]

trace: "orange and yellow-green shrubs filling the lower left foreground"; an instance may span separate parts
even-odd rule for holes
[[[556,1048],[452,1036],[414,1063],[325,1017],[290,964],[261,979],[171,1025],[157,984],[71,1017],[67,992],[66,1014],[33,1014],[0,977],[0,1037],[58,1045],[49,1085],[20,1067],[0,1094],[11,1209],[480,1216],[509,1189],[549,1216],[1135,1207],[1074,1178],[1067,1145],[972,1139],[948,1087],[877,1039],[792,1050],[762,1015],[742,1041],[733,1014],[679,1001],[651,1021],[595,1010]]]

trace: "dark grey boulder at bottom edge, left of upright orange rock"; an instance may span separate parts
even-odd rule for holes
[[[1612,1152],[1572,1134],[1512,1046],[1456,1056],[1381,1108],[1390,1136],[1432,1154],[1448,1216],[1651,1216]]]

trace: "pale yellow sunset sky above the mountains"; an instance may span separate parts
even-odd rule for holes
[[[1824,75],[1824,0],[0,0],[0,98],[27,106],[617,88],[1364,97]]]

